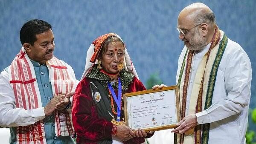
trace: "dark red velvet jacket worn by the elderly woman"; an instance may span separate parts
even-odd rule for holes
[[[104,118],[98,117],[96,105],[94,104],[90,85],[87,78],[84,78],[76,88],[76,95],[73,97],[72,119],[73,126],[77,134],[77,143],[79,144],[97,144],[97,141],[103,139],[112,139],[111,132],[113,124]],[[128,90],[123,93],[137,92],[145,90],[145,87],[134,77]],[[148,135],[145,138],[149,138]],[[125,141],[125,144],[141,144],[144,138],[132,138]]]

